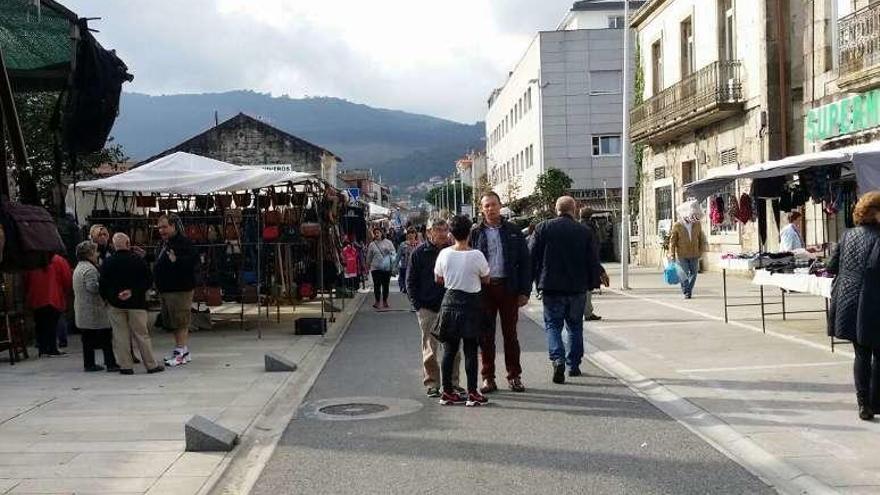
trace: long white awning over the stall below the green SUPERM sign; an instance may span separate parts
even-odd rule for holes
[[[702,201],[738,179],[769,179],[793,175],[813,167],[849,164],[855,170],[860,191],[880,189],[880,143],[789,156],[691,182],[684,187],[688,196]]]

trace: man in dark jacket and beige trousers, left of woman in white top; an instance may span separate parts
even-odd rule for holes
[[[422,330],[422,371],[423,383],[427,387],[428,397],[440,397],[440,366],[437,363],[439,342],[431,335],[431,329],[437,322],[440,304],[446,289],[437,283],[434,276],[434,265],[440,250],[449,245],[449,225],[446,220],[432,219],[428,221],[428,240],[419,244],[409,258],[409,270],[406,273],[406,295],[417,311],[419,327]],[[452,383],[456,390],[459,387],[458,373],[461,353],[455,356],[452,372]]]

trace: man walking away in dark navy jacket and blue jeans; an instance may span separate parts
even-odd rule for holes
[[[569,376],[581,375],[586,293],[600,284],[608,285],[592,232],[574,219],[576,207],[571,196],[559,198],[558,217],[538,224],[531,245],[535,284],[544,303],[554,383],[565,382],[566,364]],[[568,328],[567,353],[563,328]]]

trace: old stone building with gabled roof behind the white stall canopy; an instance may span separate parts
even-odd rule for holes
[[[333,152],[244,113],[144,160],[184,151],[235,165],[308,172],[336,185],[342,159]]]

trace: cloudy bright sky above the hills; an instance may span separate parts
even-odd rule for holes
[[[573,0],[61,0],[147,94],[333,96],[473,123]]]

